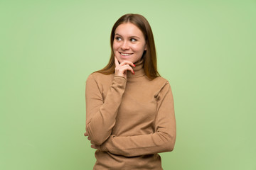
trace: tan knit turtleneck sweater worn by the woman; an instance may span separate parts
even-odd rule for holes
[[[127,79],[92,73],[86,81],[86,131],[95,145],[94,169],[162,169],[159,152],[176,140],[171,86],[149,80],[142,61]]]

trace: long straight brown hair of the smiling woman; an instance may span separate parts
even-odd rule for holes
[[[133,23],[137,26],[143,33],[145,41],[146,41],[146,50],[144,51],[142,58],[143,58],[143,68],[144,72],[149,79],[154,79],[156,77],[160,77],[159,72],[157,72],[157,64],[156,64],[156,47],[154,44],[154,36],[149,25],[149,22],[144,18],[144,16],[139,14],[128,13],[124,16],[121,16],[111,31],[110,35],[110,46],[111,46],[111,55],[110,61],[106,67],[100,69],[97,72],[102,74],[112,74],[114,73],[114,50],[113,50],[113,42],[114,42],[114,32],[117,27],[122,23]]]

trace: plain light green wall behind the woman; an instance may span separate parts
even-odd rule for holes
[[[177,121],[164,169],[256,169],[256,1],[0,1],[0,169],[92,169],[85,80],[125,13],[151,24]]]

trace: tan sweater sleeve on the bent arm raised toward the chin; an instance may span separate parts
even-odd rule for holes
[[[103,100],[102,89],[93,75],[90,74],[87,78],[85,88],[86,131],[96,145],[102,145],[111,135],[126,81],[127,79],[124,77],[114,76],[107,96]]]

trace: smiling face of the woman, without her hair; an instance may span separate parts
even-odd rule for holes
[[[114,32],[113,50],[120,63],[137,62],[146,50],[146,41],[142,31],[133,23],[120,24]]]

